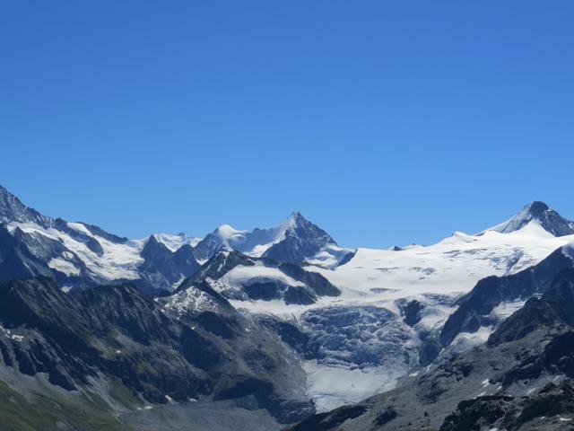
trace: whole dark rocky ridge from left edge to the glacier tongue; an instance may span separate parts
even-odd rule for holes
[[[0,286],[0,366],[68,391],[104,375],[149,402],[251,395],[279,420],[308,416],[303,372],[283,359],[291,347],[220,301],[176,318],[135,286],[66,295],[48,278],[13,280]]]

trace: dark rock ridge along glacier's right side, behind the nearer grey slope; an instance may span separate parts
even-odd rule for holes
[[[562,269],[572,268],[574,260],[564,250],[553,251],[534,267],[507,277],[486,277],[463,296],[456,312],[440,331],[440,342],[448,346],[460,332],[475,332],[481,326],[497,323],[491,312],[500,303],[544,294]]]

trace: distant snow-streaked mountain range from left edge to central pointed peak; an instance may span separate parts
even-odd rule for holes
[[[321,259],[332,266],[352,252],[297,212],[283,224],[250,233],[224,225],[203,240],[166,233],[128,240],[93,224],[42,216],[2,187],[0,223],[0,281],[45,276],[68,290],[131,282],[150,295],[173,291],[220,251],[295,264]]]

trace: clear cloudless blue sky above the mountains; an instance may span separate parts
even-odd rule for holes
[[[0,184],[132,237],[574,218],[570,1],[0,4]]]

